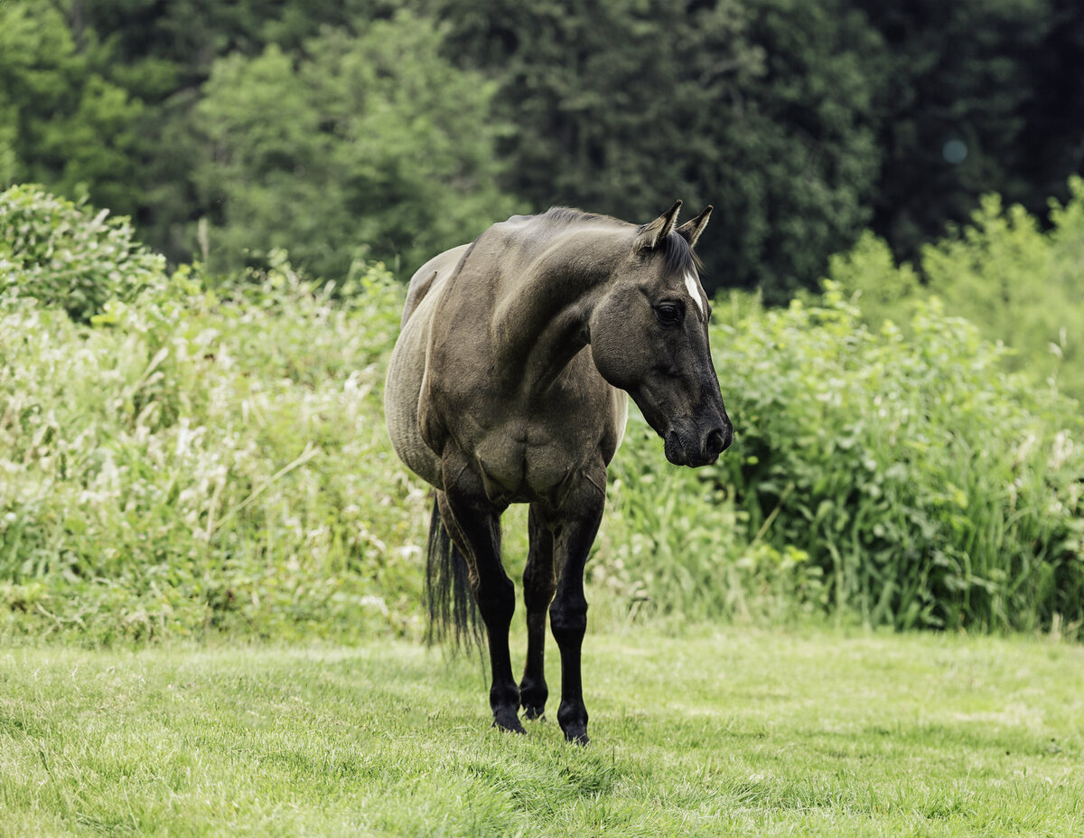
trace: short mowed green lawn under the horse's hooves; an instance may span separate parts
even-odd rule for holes
[[[3,648],[0,835],[1084,835],[1077,646],[638,628],[585,691],[578,748],[405,642]]]

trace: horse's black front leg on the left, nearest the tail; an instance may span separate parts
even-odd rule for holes
[[[470,563],[472,591],[486,624],[492,685],[489,704],[493,725],[513,733],[527,733],[519,723],[519,687],[512,675],[508,626],[516,610],[516,586],[501,562],[501,512],[486,495],[481,477],[462,453],[446,453],[444,503],[454,519],[457,545]],[[441,510],[443,512],[443,509]],[[453,528],[448,528],[453,533]]]

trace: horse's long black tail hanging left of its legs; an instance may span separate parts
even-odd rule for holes
[[[477,646],[481,649],[478,606],[470,593],[467,560],[449,535],[436,498],[429,520],[425,599],[429,614],[428,643],[451,639],[456,647]]]

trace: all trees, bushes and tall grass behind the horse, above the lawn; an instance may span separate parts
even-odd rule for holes
[[[1076,0],[0,0],[0,634],[420,637],[404,282],[681,198],[735,443],[592,619],[1084,637],[1082,172]]]

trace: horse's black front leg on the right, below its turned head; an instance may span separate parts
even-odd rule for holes
[[[583,477],[569,492],[552,519],[557,591],[550,606],[550,628],[560,649],[560,707],[557,722],[565,738],[588,744],[588,709],[583,704],[580,650],[588,628],[588,600],[583,595],[583,569],[598,534],[606,495],[606,469],[591,479]]]

